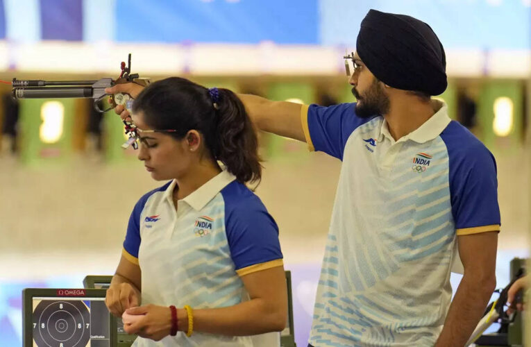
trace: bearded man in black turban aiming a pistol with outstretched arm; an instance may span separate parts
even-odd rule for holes
[[[496,162],[431,99],[446,60],[428,24],[371,10],[352,58],[357,103],[238,95],[261,130],[342,160],[309,344],[464,346],[496,285]],[[450,305],[456,249],[464,276]]]

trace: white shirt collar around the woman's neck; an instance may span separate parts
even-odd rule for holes
[[[212,198],[214,198],[214,196],[221,192],[221,189],[224,189],[224,187],[226,187],[229,183],[233,182],[233,180],[235,179],[236,177],[233,174],[230,174],[230,172],[226,170],[221,171],[213,178],[210,178],[207,183],[201,185],[201,187],[192,192],[192,194],[189,194],[188,196],[183,198],[183,201],[185,201],[185,203],[190,205],[196,211],[202,210],[205,205],[209,203]],[[166,189],[166,198],[171,199],[172,193],[174,192],[174,188],[176,185],[177,180],[173,180]]]

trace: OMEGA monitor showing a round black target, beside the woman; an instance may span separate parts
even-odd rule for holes
[[[28,295],[28,291],[55,291],[56,295]],[[97,291],[98,295],[90,296],[87,291]],[[104,289],[24,289],[24,292],[24,346],[112,346],[111,316],[105,305]]]

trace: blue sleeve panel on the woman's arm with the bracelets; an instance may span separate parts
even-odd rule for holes
[[[236,180],[221,190],[225,230],[235,269],[282,259],[278,226],[260,198]]]

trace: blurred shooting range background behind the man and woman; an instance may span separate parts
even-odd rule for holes
[[[119,62],[133,53],[133,72],[153,79],[187,76],[209,87],[277,100],[350,102],[341,58],[345,49],[354,49],[367,10],[423,19],[447,53],[449,87],[441,98],[498,162],[497,279],[503,287],[509,260],[529,256],[530,5],[525,0],[0,0],[0,77],[115,78]],[[508,99],[500,104],[498,98]],[[19,346],[22,288],[81,287],[87,274],[112,274],[133,205],[161,184],[151,180],[133,151],[121,150],[121,123],[112,112],[94,127],[91,101],[23,100],[11,128],[12,105],[0,100],[0,345]],[[495,104],[498,111],[512,105],[510,117],[495,115]],[[48,144],[41,138],[46,105],[63,117],[60,135]],[[496,135],[495,117],[512,119],[504,136]],[[280,227],[285,267],[293,277],[296,342],[305,346],[340,162],[307,153],[305,144],[289,139],[264,133],[260,139],[266,162],[257,193]],[[459,280],[452,278],[454,289]]]

